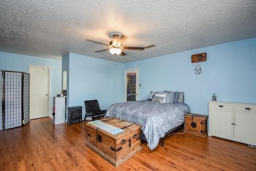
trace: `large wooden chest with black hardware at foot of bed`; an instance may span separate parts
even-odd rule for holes
[[[142,150],[142,146],[140,145],[141,125],[114,117],[104,118],[100,121],[124,130],[121,133],[113,135],[90,123],[86,123],[88,130],[86,145],[112,165],[117,167]]]

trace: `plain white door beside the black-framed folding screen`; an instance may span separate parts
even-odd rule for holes
[[[30,119],[50,116],[50,67],[29,66]]]

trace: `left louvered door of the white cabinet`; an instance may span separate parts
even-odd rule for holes
[[[233,112],[225,110],[210,110],[209,131],[223,135],[233,136]]]

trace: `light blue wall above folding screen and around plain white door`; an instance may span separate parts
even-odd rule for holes
[[[47,58],[39,58],[34,56],[26,56],[20,54],[11,54],[0,52],[0,70],[4,71],[17,71],[28,73],[28,65],[35,66],[48,66],[51,67],[51,106],[53,107],[53,96],[61,93],[62,88],[62,62],[60,60],[52,60]]]

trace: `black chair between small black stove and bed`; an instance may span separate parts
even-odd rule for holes
[[[85,116],[84,121],[86,119],[86,116],[92,115],[92,120],[94,121],[95,118],[99,118],[102,116],[105,116],[107,110],[101,110],[98,100],[85,100]]]

